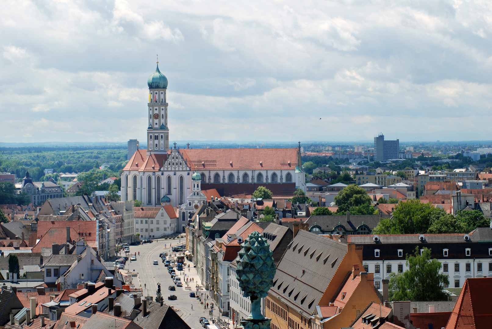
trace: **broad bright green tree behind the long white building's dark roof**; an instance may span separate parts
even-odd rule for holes
[[[393,210],[393,217],[381,219],[372,232],[373,234],[427,233],[431,226],[432,216],[442,212],[442,209],[435,208],[431,203],[407,200],[398,203]]]

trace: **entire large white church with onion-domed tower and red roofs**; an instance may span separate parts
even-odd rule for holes
[[[292,195],[298,188],[306,192],[300,147],[169,149],[168,82],[158,65],[147,83],[147,149],[137,150],[123,168],[122,201],[140,200],[144,207],[169,203],[191,209],[201,198],[205,200],[201,192],[200,197],[193,195],[198,193],[196,185],[193,190],[195,172],[200,175],[201,190],[215,190],[221,196],[252,194],[258,186],[267,187],[274,195]],[[183,216],[183,221],[187,220],[187,214]]]

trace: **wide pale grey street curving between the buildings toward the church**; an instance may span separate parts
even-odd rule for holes
[[[196,292],[196,283],[201,284],[198,279],[198,275],[196,270],[193,268],[193,263],[188,262],[185,259],[185,263],[183,269],[186,271],[181,272],[181,275],[178,271],[176,273],[181,276],[181,280],[184,284],[183,287],[176,287],[176,291],[169,291],[168,287],[170,285],[176,286],[171,279],[171,275],[167,272],[167,267],[162,263],[159,253],[167,251],[169,255],[172,254],[170,245],[177,246],[184,244],[184,238],[181,239],[181,243],[179,239],[174,240],[164,240],[159,239],[158,242],[152,244],[144,244],[140,246],[130,246],[130,253],[128,256],[134,255],[137,253],[137,260],[130,263],[130,261],[126,262],[125,269],[130,272],[138,273],[140,284],[142,286],[143,296],[153,296],[155,299],[155,292],[157,291],[157,283],[161,285],[161,293],[164,298],[164,303],[167,305],[174,305],[177,313],[184,319],[184,321],[194,329],[202,328],[200,322],[198,321],[200,317],[204,316],[210,319],[209,310],[205,310],[203,305],[200,304],[200,301],[196,298],[189,297],[190,292]],[[167,245],[167,248],[164,246]],[[138,255],[140,252],[140,256]],[[123,254],[123,253],[122,253]],[[169,257],[168,257],[169,258]],[[153,265],[154,260],[158,261],[158,265]],[[190,270],[188,272],[188,264],[190,264]],[[191,290],[185,290],[185,278],[186,277],[193,278],[194,282],[190,283],[189,286]],[[146,285],[146,288],[144,286]],[[200,291],[203,293],[203,296],[208,294],[208,291],[203,290]],[[169,301],[167,297],[169,295],[176,295],[178,299],[176,301]],[[210,300],[209,300],[210,303]],[[191,304],[193,304],[193,310],[191,310]],[[214,317],[217,316],[217,310],[214,311]]]

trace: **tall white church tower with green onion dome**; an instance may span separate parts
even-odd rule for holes
[[[169,129],[167,127],[167,78],[159,71],[147,80],[149,86],[149,127],[147,128],[147,155],[165,154],[169,150]]]

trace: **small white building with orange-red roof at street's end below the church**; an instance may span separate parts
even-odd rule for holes
[[[160,238],[176,232],[178,216],[171,205],[134,208],[135,234],[141,239]]]

